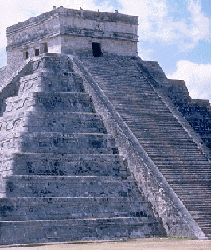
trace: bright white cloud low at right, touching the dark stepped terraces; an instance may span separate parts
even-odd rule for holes
[[[167,77],[185,80],[192,98],[209,99],[211,102],[211,64],[195,64],[182,60],[177,62],[177,71]]]

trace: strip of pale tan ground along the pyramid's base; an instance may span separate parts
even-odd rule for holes
[[[128,239],[118,241],[71,241],[62,243],[43,243],[43,244],[27,244],[9,246],[10,250],[31,250],[36,247],[36,250],[183,250],[185,249],[201,249],[207,250],[211,247],[211,240],[190,240],[177,238],[141,238]],[[17,248],[19,247],[19,248]]]

